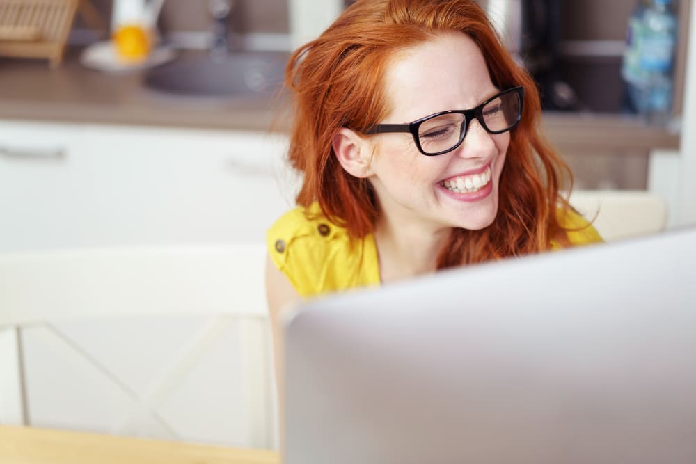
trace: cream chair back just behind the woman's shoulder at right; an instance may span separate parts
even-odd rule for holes
[[[667,202],[648,191],[578,190],[570,203],[594,227],[603,239],[614,241],[655,234],[667,225]]]

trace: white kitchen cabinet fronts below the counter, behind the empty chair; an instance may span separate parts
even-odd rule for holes
[[[0,253],[263,243],[294,197],[286,145],[260,132],[0,121]],[[230,278],[235,285],[249,284]],[[152,317],[23,330],[29,424],[269,446],[245,426],[235,347],[247,335],[239,323],[152,399],[162,369],[205,323]]]

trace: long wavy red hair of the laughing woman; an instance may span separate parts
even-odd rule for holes
[[[446,31],[472,38],[493,84],[523,86],[525,102],[511,131],[495,220],[482,230],[454,228],[438,269],[535,253],[548,249],[552,239],[567,244],[556,211],[569,209],[560,189],[564,182],[571,186],[572,175],[539,133],[535,82],[473,0],[358,0],[292,54],[285,87],[294,101],[290,163],[303,175],[297,204],[318,202],[329,221],[346,227],[351,237],[373,231],[380,214],[374,191],[366,179],[340,166],[332,137],[341,127],[362,132],[382,120],[390,111],[384,82],[395,52]]]

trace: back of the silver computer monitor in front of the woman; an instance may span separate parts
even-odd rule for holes
[[[285,464],[696,463],[696,229],[317,298]]]

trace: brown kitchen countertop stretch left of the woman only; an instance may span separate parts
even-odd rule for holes
[[[266,131],[287,127],[278,99],[211,99],[158,93],[144,71],[107,73],[68,51],[60,67],[44,60],[0,60],[0,119]],[[276,124],[277,123],[277,124]]]

